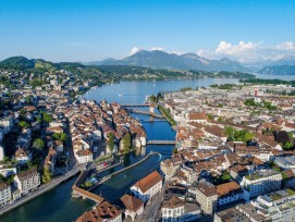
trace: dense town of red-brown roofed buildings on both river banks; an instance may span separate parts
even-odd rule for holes
[[[128,107],[82,98],[109,78],[65,66],[1,71],[1,214],[77,175],[73,198],[96,202],[77,222],[295,220],[294,82],[249,77]],[[148,140],[133,112],[167,120],[175,140]],[[112,176],[93,174],[149,143],[175,147],[120,206],[91,193]]]

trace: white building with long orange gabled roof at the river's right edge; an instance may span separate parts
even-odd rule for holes
[[[153,171],[131,187],[134,196],[142,201],[147,201],[162,189],[162,176]]]

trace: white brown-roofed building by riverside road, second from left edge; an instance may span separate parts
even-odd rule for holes
[[[17,173],[13,178],[13,185],[22,195],[27,194],[40,185],[40,174],[35,168]]]

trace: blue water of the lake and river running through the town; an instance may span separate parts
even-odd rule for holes
[[[235,78],[202,78],[202,79],[181,79],[181,81],[158,81],[158,82],[122,82],[120,84],[105,85],[84,95],[86,99],[97,101],[107,99],[119,103],[142,103],[147,95],[159,91],[177,90],[183,87],[207,87],[212,84],[238,83]],[[148,116],[132,114],[139,120],[147,120]],[[148,139],[174,139],[175,132],[168,122],[143,123],[147,132]],[[133,164],[144,158],[150,151],[161,153],[161,158],[171,156],[173,146],[150,145],[144,149],[137,149],[124,157],[123,165],[109,170],[112,173],[116,170]],[[159,157],[151,156],[139,165],[120,173],[98,187],[94,193],[102,194],[110,200],[115,200],[121,195],[128,192],[128,187],[138,178],[147,175],[151,169],[159,166]],[[94,205],[89,200],[72,198],[72,185],[75,177],[64,182],[57,188],[15,208],[0,217],[1,222],[64,222],[74,221],[85,210],[91,209]]]

